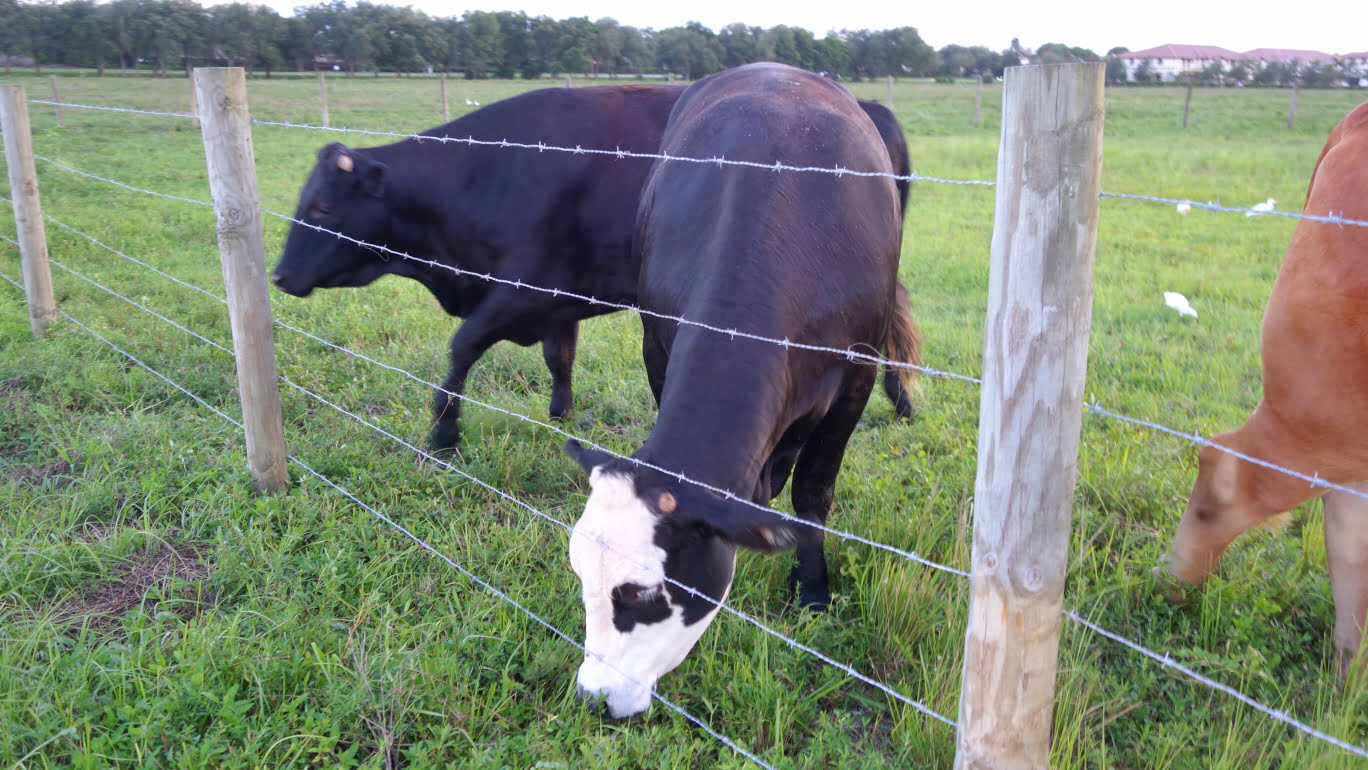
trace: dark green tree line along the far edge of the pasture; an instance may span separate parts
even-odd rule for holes
[[[241,66],[267,77],[282,68],[445,71],[466,78],[674,74],[695,79],[748,62],[782,62],[843,78],[1000,77],[1027,60],[1099,60],[1090,51],[1047,45],[1025,52],[928,45],[915,27],[843,30],[817,37],[802,27],[699,23],[663,30],[614,19],[551,19],[523,12],[468,11],[428,16],[413,8],[334,0],[293,16],[233,3],[193,0],[0,0],[0,57],[36,67],[66,64],[166,74],[196,66]]]

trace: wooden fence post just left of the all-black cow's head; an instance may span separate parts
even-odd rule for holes
[[[246,78],[241,67],[197,68],[194,86],[228,293],[248,468],[256,490],[271,494],[283,490],[289,479]]]

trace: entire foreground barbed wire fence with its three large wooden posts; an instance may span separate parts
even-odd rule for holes
[[[320,78],[321,81],[321,78]],[[5,157],[10,172],[10,189],[15,217],[18,223],[18,241],[0,235],[7,242],[15,243],[21,250],[23,261],[23,283],[4,276],[12,284],[23,289],[29,297],[30,321],[37,335],[47,332],[48,326],[60,313],[73,324],[97,336],[104,343],[114,347],[119,354],[130,358],[137,365],[148,369],[171,387],[196,399],[198,403],[213,410],[219,417],[241,427],[248,438],[248,458],[256,487],[263,492],[272,492],[287,484],[285,468],[294,464],[306,475],[317,477],[352,502],[380,518],[387,525],[398,529],[402,535],[413,539],[424,550],[432,553],[450,566],[461,572],[465,577],[491,591],[501,600],[508,602],[527,614],[535,622],[543,625],[554,635],[579,647],[583,647],[561,629],[554,628],[512,596],[503,594],[497,587],[486,583],[465,566],[451,561],[434,546],[423,542],[398,522],[369,506],[352,492],[339,487],[330,479],[315,472],[295,457],[287,454],[279,408],[279,394],[276,384],[283,383],[305,397],[360,423],[382,436],[404,446],[425,460],[457,473],[466,480],[480,486],[488,492],[498,495],[550,524],[566,532],[572,527],[554,516],[536,509],[521,501],[508,490],[486,483],[471,473],[432,457],[423,449],[390,434],[367,419],[331,402],[324,395],[313,393],[289,377],[275,372],[275,354],[272,327],[304,335],[313,342],[331,350],[367,361],[372,365],[406,376],[408,379],[442,390],[439,386],[402,368],[378,361],[337,345],[321,336],[300,330],[294,326],[272,319],[268,308],[268,294],[264,271],[264,246],[261,238],[261,216],[275,216],[289,220],[297,226],[313,227],[334,237],[350,239],[371,249],[386,252],[405,260],[415,260],[430,267],[450,269],[453,272],[490,282],[513,284],[528,291],[542,291],[555,295],[569,295],[584,302],[628,309],[642,315],[657,315],[680,324],[707,328],[714,332],[720,342],[724,338],[741,336],[751,341],[761,341],[787,347],[800,347],[804,350],[826,351],[832,356],[844,356],[852,360],[863,360],[869,364],[886,367],[915,368],[926,375],[955,379],[978,384],[981,387],[979,405],[979,435],[978,435],[978,475],[974,494],[974,535],[973,555],[969,570],[944,565],[928,559],[917,553],[899,548],[886,543],[878,543],[862,537],[852,532],[826,528],[789,514],[759,506],[777,516],[789,518],[798,525],[817,527],[833,536],[858,542],[874,547],[903,559],[952,574],[967,577],[971,585],[971,603],[969,610],[969,628],[966,629],[966,655],[962,672],[962,691],[959,718],[952,719],[930,708],[926,703],[917,700],[888,682],[878,681],[855,667],[837,661],[826,652],[821,652],[802,641],[785,636],[762,621],[750,617],[722,602],[703,596],[692,587],[670,580],[670,583],[691,595],[703,598],[717,605],[729,614],[759,628],[796,650],[813,655],[829,666],[836,667],[851,678],[865,685],[873,687],[884,695],[902,702],[929,718],[956,729],[958,732],[958,767],[1042,767],[1047,763],[1051,719],[1048,715],[1053,708],[1055,699],[1055,670],[1057,661],[1059,632],[1063,620],[1070,620],[1083,628],[1090,629],[1107,639],[1116,641],[1135,652],[1140,652],[1155,662],[1181,672],[1185,676],[1207,687],[1224,692],[1260,713],[1278,719],[1279,722],[1302,732],[1306,736],[1332,744],[1345,752],[1368,759],[1368,749],[1350,744],[1320,732],[1300,719],[1270,708],[1239,691],[1204,677],[1198,672],[1182,666],[1172,661],[1168,654],[1155,652],[1133,640],[1088,621],[1074,609],[1063,606],[1064,572],[1067,563],[1068,533],[1071,524],[1071,507],[1074,487],[1077,481],[1078,442],[1081,423],[1085,413],[1097,414],[1107,419],[1123,420],[1130,424],[1159,429],[1170,435],[1183,438],[1197,444],[1213,446],[1245,461],[1259,462],[1264,466],[1308,479],[1311,483],[1327,488],[1350,491],[1365,496],[1363,492],[1328,484],[1316,476],[1300,475],[1287,468],[1274,465],[1260,458],[1250,458],[1235,453],[1227,447],[1220,447],[1201,436],[1196,436],[1174,428],[1167,428],[1157,423],[1127,417],[1104,409],[1101,405],[1083,403],[1083,379],[1086,372],[1088,336],[1092,317],[1092,287],[1093,287],[1093,253],[1096,242],[1096,226],[1099,204],[1104,197],[1135,198],[1153,202],[1182,204],[1178,198],[1134,196],[1104,193],[1099,187],[1101,171],[1101,124],[1103,124],[1103,67],[1099,64],[1066,64],[1047,67],[1019,67],[1008,70],[1004,83],[1003,105],[1003,133],[999,148],[1000,171],[997,182],[938,179],[912,174],[910,176],[895,176],[885,172],[871,172],[867,170],[847,168],[814,168],[795,167],[782,161],[773,164],[755,164],[728,160],[725,157],[676,157],[655,153],[628,153],[620,148],[565,148],[546,144],[529,145],[508,142],[494,137],[421,137],[391,131],[371,131],[337,129],[324,126],[306,126],[295,123],[280,123],[268,120],[252,120],[246,108],[246,82],[241,70],[196,70],[194,75],[197,92],[197,115],[182,112],[141,111],[116,107],[98,107],[83,104],[62,104],[67,108],[108,109],[116,112],[141,114],[157,118],[192,119],[201,123],[211,190],[213,201],[204,201],[179,196],[170,196],[146,190],[100,176],[97,174],[73,168],[70,165],[34,155],[31,138],[27,127],[26,104],[56,104],[45,100],[25,100],[23,89],[19,86],[0,86],[0,119],[3,119],[5,138]],[[326,93],[326,92],[323,92]],[[445,93],[445,89],[443,89]],[[661,316],[650,309],[632,305],[607,302],[595,297],[575,295],[560,289],[535,286],[520,279],[509,279],[498,275],[476,274],[462,271],[453,265],[442,265],[412,254],[389,249],[379,243],[364,243],[354,241],[342,233],[335,233],[297,220],[289,215],[265,209],[260,205],[256,193],[256,170],[252,157],[252,124],[278,126],[300,130],[317,130],[334,133],[358,133],[367,135],[402,137],[420,141],[458,142],[466,145],[497,146],[509,152],[570,152],[570,153],[602,153],[618,157],[651,157],[663,161],[692,163],[726,167],[750,167],[776,174],[829,174],[836,176],[893,176],[914,182],[945,183],[945,185],[974,185],[993,186],[996,190],[996,215],[993,230],[992,258],[989,265],[989,304],[985,332],[984,376],[973,377],[930,367],[914,365],[906,361],[891,361],[880,356],[871,356],[856,350],[841,350],[807,345],[803,341],[773,339],[765,335],[752,334],[747,330],[718,328],[702,324],[695,320]],[[324,122],[326,123],[326,122]],[[94,237],[62,223],[41,211],[38,198],[38,178],[34,160],[41,160],[52,167],[77,174],[101,183],[115,185],[124,190],[140,194],[156,196],[160,198],[213,208],[216,228],[219,234],[220,252],[223,254],[223,271],[226,295],[216,294],[200,286],[181,280],[155,265],[137,257],[129,256],[114,246],[109,246]],[[1021,178],[1007,170],[1029,168],[1033,171],[1030,179]],[[1207,208],[1216,212],[1241,212],[1248,209],[1234,209],[1215,204],[1196,204],[1196,208]],[[1345,219],[1342,212],[1327,212],[1320,215],[1293,215],[1287,212],[1272,212],[1279,216],[1294,216],[1335,226],[1368,226],[1368,222]],[[155,310],[123,297],[116,291],[81,275],[79,272],[48,258],[44,223],[67,230],[89,242],[100,246],[112,254],[150,269],[160,276],[181,286],[212,297],[228,306],[233,327],[233,349],[216,343],[179,323],[156,313]],[[66,274],[77,279],[86,280],[111,295],[129,302],[138,309],[150,313],[161,321],[193,335],[194,338],[219,349],[234,357],[238,368],[238,393],[242,401],[244,421],[234,420],[228,414],[208,405],[197,395],[183,388],[174,380],[157,372],[153,367],[134,358],[114,342],[98,335],[64,309],[56,306],[52,300],[52,282],[48,264],[56,265]],[[450,394],[465,403],[483,409],[491,409],[542,429],[573,438],[586,444],[610,451],[595,442],[577,436],[562,427],[536,420],[527,414],[506,410],[499,406],[466,397],[464,394]],[[1034,416],[1034,420],[1033,417]],[[1051,451],[1042,451],[1041,436],[1033,435],[1027,425],[1036,420],[1049,420],[1056,425],[1051,436],[1053,442]],[[617,453],[617,457],[624,457]],[[992,455],[996,458],[989,462]],[[1015,460],[1008,460],[1015,458]],[[624,457],[631,462],[646,465],[631,457]],[[722,490],[707,484],[703,480],[691,479],[676,469],[655,468],[681,483],[691,483],[706,487],[728,498],[750,503],[746,495],[736,495],[731,490]],[[583,536],[583,535],[581,535]],[[621,554],[611,544],[598,542],[599,547]],[[669,579],[666,579],[669,580]],[[1005,622],[1003,618],[1010,618]],[[1014,632],[1008,633],[1008,628]],[[631,678],[631,677],[628,677]],[[1025,685],[1025,687],[1023,687]],[[689,714],[673,702],[666,700],[659,693],[653,693],[668,708],[681,714],[700,729],[722,741],[729,748],[737,751],[751,762],[770,767],[762,758],[737,745],[735,741],[710,728],[703,719]],[[1042,718],[1041,715],[1047,715]]]

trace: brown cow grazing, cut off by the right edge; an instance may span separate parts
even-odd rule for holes
[[[1368,103],[1320,152],[1305,213],[1368,220]],[[1368,227],[1297,224],[1263,327],[1264,398],[1215,443],[1368,494]],[[1241,532],[1312,498],[1326,499],[1326,554],[1335,596],[1339,672],[1368,615],[1368,499],[1201,451],[1168,569],[1197,584]]]

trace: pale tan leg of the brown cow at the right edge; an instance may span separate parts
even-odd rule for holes
[[[1353,488],[1368,494],[1368,483]],[[1368,624],[1368,501],[1364,498],[1339,491],[1326,494],[1326,561],[1335,596],[1339,674],[1347,676]]]

